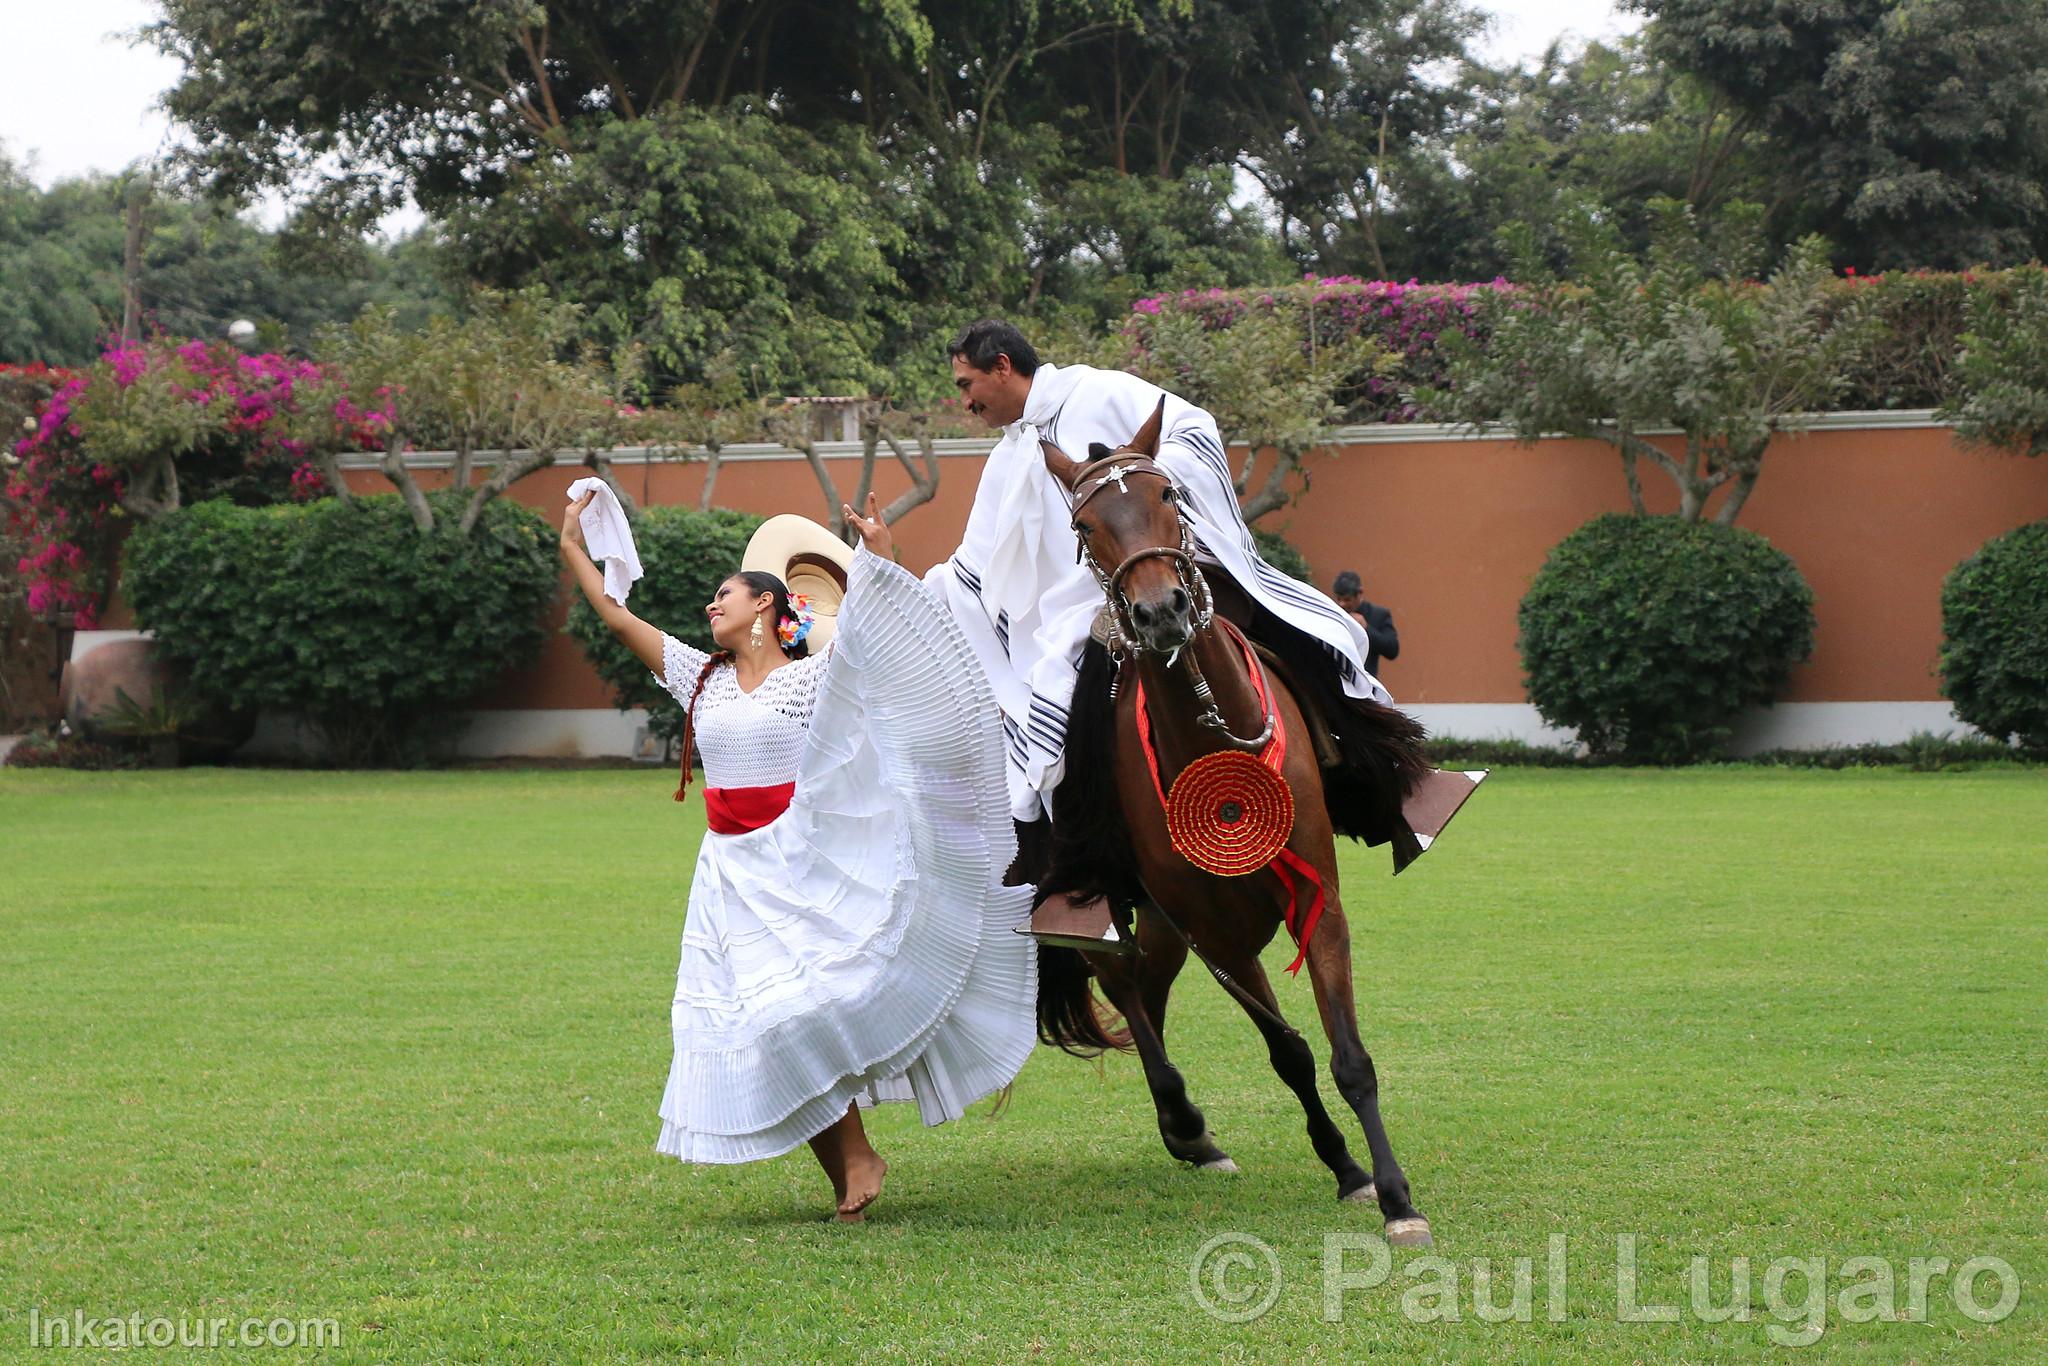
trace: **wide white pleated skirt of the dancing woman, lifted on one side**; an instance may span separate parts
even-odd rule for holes
[[[1008,1085],[1038,958],[989,684],[952,614],[854,557],[788,811],[707,834],[690,881],[655,1151],[774,1157],[848,1104],[926,1124]]]

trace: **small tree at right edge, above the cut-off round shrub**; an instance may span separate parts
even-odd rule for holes
[[[2032,264],[1972,285],[1960,342],[1942,416],[1966,442],[2048,453],[2048,270]]]

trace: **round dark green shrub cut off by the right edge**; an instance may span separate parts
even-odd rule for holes
[[[2048,522],[1987,541],[1942,586],[1942,692],[1999,739],[2048,750]]]

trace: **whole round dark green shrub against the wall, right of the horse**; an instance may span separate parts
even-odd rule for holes
[[[1812,653],[1812,590],[1755,532],[1608,514],[1538,569],[1520,649],[1544,721],[1604,758],[1690,764]]]

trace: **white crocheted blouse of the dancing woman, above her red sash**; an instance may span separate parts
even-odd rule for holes
[[[803,762],[803,737],[811,729],[817,707],[817,686],[825,680],[827,647],[805,659],[791,659],[768,670],[754,692],[739,690],[739,674],[731,661],[721,664],[705,680],[696,698],[696,752],[705,760],[705,786],[780,786],[797,780]],[[662,633],[662,672],[655,682],[688,707],[696,676],[705,672],[709,653]]]

